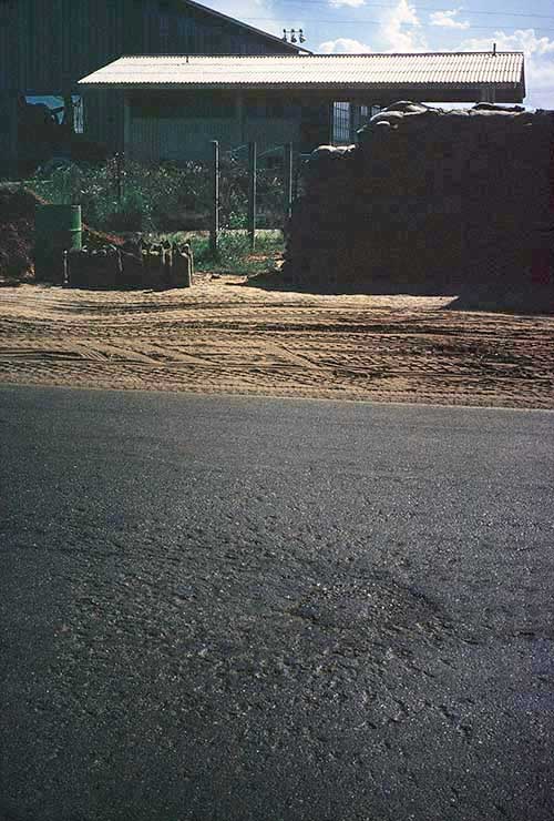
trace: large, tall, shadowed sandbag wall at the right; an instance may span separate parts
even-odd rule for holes
[[[483,277],[553,277],[553,112],[400,102],[358,136],[306,163],[286,280],[456,293]]]

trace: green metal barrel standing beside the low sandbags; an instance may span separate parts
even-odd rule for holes
[[[34,276],[63,282],[63,252],[81,250],[81,205],[37,205],[34,211]]]

